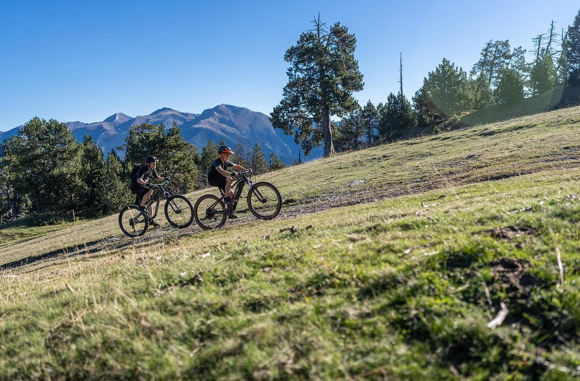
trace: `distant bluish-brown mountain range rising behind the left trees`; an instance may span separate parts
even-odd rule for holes
[[[141,115],[136,118],[115,113],[104,119],[103,122],[83,123],[67,122],[68,128],[78,141],[83,141],[85,134],[90,135],[107,154],[115,149],[119,156],[125,153],[118,151],[117,147],[125,143],[129,134],[129,127],[141,123],[163,123],[169,129],[173,122],[182,130],[183,138],[197,146],[200,150],[212,140],[218,144],[220,139],[227,145],[235,147],[238,142],[244,144],[248,152],[253,150],[256,141],[266,153],[266,160],[270,153],[280,157],[285,163],[292,164],[298,160],[300,146],[295,144],[294,138],[285,135],[280,129],[274,129],[268,116],[261,112],[251,111],[243,107],[221,104],[211,109],[204,110],[201,114],[180,112],[171,108],[161,108],[149,115]],[[0,141],[18,133],[21,126],[12,130],[0,132]],[[322,156],[322,148],[314,149],[309,157],[302,160],[312,160]]]

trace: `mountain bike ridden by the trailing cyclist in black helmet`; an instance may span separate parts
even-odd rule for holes
[[[153,224],[153,219],[157,217],[159,204],[161,199],[165,199],[165,218],[171,226],[183,229],[191,225],[193,222],[193,206],[186,196],[172,195],[168,190],[169,180],[165,180],[160,184],[153,185],[153,194],[147,202],[145,207],[148,210],[149,206],[155,204],[155,213],[150,215],[148,211],[141,211],[139,208],[139,196],[136,197],[135,205],[128,205],[119,212],[119,226],[123,233],[129,237],[142,236],[147,232],[150,224]]]

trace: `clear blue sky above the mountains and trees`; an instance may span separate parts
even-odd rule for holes
[[[361,104],[411,99],[443,58],[473,67],[485,42],[532,38],[574,22],[577,0],[0,0],[0,131],[34,116],[100,122],[158,108],[225,103],[269,114],[287,83],[285,51],[321,20],[357,38]]]

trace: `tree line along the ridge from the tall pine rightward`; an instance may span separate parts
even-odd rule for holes
[[[403,94],[401,64],[398,93],[362,107],[352,96],[364,86],[354,34],[340,23],[327,28],[320,15],[312,23],[284,56],[290,64],[288,83],[270,114],[273,126],[293,135],[306,155],[323,143],[324,156],[330,156],[396,140],[416,126],[437,131],[454,116],[580,85],[580,10],[567,29],[558,32],[552,21],[548,31],[532,38],[531,62],[523,47],[490,40],[469,74],[443,58],[411,102]],[[340,122],[332,123],[331,116]]]

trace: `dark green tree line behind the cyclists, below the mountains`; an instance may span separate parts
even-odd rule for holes
[[[78,142],[66,123],[33,118],[0,147],[0,223],[24,215],[51,224],[117,213],[135,201],[129,173],[147,155],[160,159],[158,173],[172,178],[176,192],[191,192],[206,186],[219,145],[210,140],[200,153],[175,122],[167,130],[163,124],[142,123],[132,126],[117,148],[125,151],[124,159],[114,149],[105,158],[90,135]],[[238,142],[235,149],[236,162],[257,174],[286,166],[274,153],[266,162],[259,142],[252,150]]]

